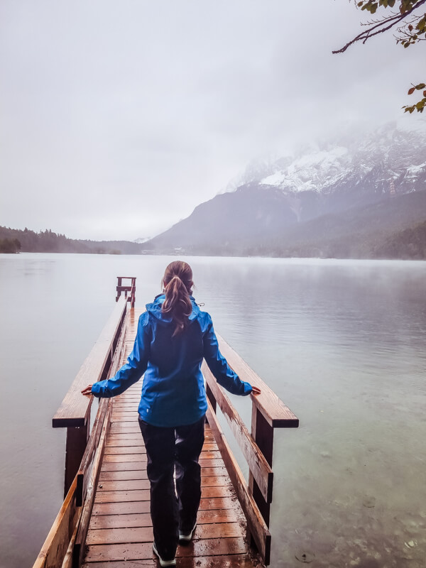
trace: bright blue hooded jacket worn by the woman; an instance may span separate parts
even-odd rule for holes
[[[172,318],[161,311],[164,300],[165,295],[160,295],[146,305],[127,363],[113,378],[94,383],[92,393],[97,397],[119,395],[145,373],[139,416],[154,426],[175,427],[197,422],[207,410],[203,357],[219,385],[230,393],[248,395],[252,389],[226,363],[212,318],[200,310],[194,298],[190,322],[175,337]]]

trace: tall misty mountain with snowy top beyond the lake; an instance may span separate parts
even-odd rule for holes
[[[420,202],[414,206],[410,200],[404,217],[408,200],[399,200],[426,190],[426,131],[387,125],[362,136],[344,133],[295,155],[251,163],[233,185],[234,190],[200,204],[190,217],[148,241],[147,248],[233,253],[263,246],[268,251],[271,243],[284,246],[295,239],[332,238],[337,229],[329,224],[330,215],[334,221],[345,218],[346,224],[351,215],[358,215],[357,234],[371,232],[375,224],[371,207],[381,202],[385,203],[384,209],[378,209],[382,229],[398,218],[405,219],[407,226],[426,220],[426,207]],[[389,206],[386,222],[386,203],[393,197],[398,197],[399,209]],[[358,213],[352,213],[355,210]],[[324,223],[330,227],[329,235]],[[348,234],[350,230],[346,226]],[[342,231],[344,227],[338,230],[339,238]]]

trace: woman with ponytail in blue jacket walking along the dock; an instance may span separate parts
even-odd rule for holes
[[[261,391],[241,381],[219,351],[212,318],[192,297],[192,270],[170,263],[164,293],[146,306],[138,321],[133,351],[113,378],[89,385],[83,394],[116,396],[145,373],[139,426],[146,445],[151,483],[153,552],[160,566],[175,566],[178,540],[190,541],[197,525],[207,399],[203,358],[226,390],[237,395]],[[173,481],[175,473],[176,482]],[[177,498],[176,498],[177,496]]]

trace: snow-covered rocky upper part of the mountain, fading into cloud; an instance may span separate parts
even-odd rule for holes
[[[285,193],[327,194],[348,179],[360,183],[373,174],[381,192],[390,190],[392,181],[395,188],[401,186],[401,191],[406,192],[415,189],[418,176],[425,170],[426,131],[403,131],[388,124],[367,135],[346,134],[305,146],[293,156],[269,163],[251,163],[236,184],[257,182],[279,187]]]

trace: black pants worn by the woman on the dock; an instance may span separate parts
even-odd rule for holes
[[[197,520],[201,497],[198,459],[204,444],[204,421],[203,416],[194,424],[163,428],[139,419],[148,459],[146,472],[151,483],[154,540],[165,560],[175,557],[178,530],[190,532]]]

